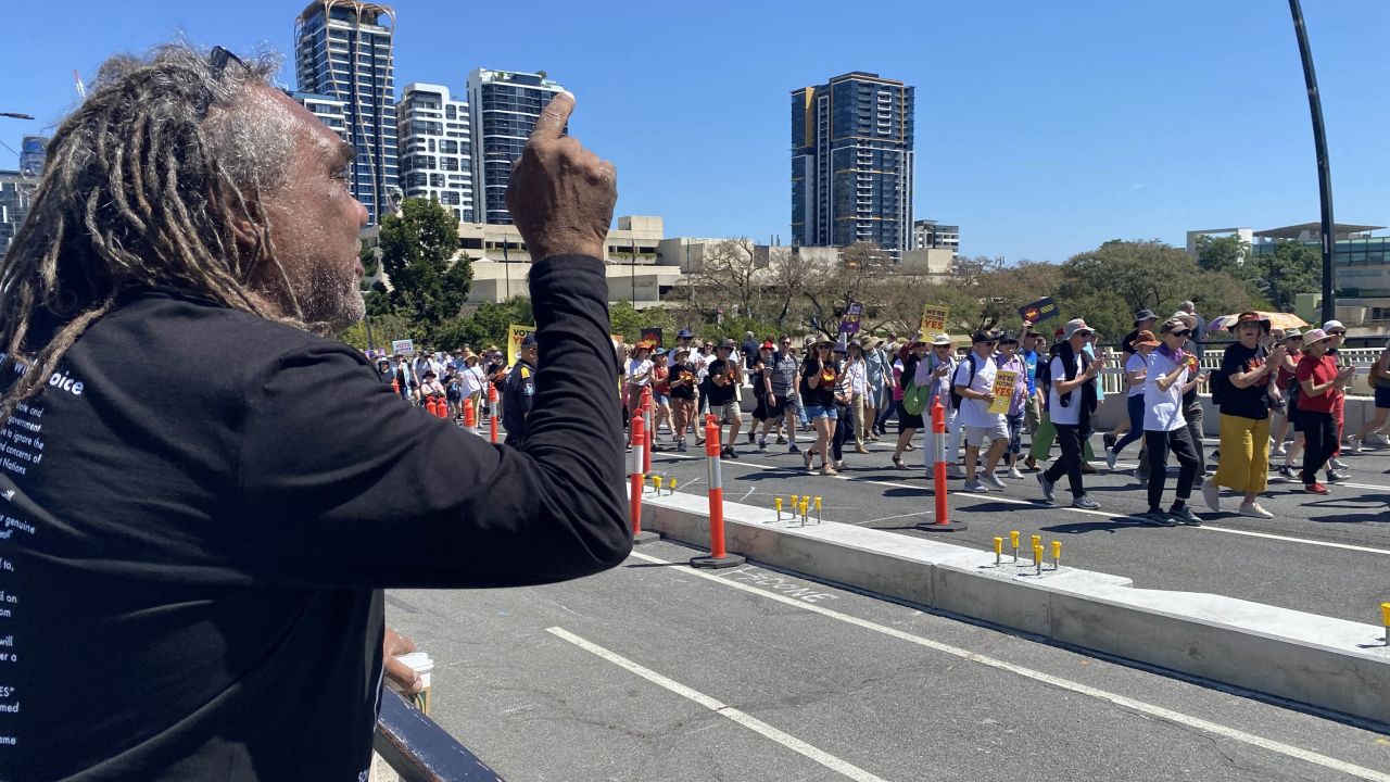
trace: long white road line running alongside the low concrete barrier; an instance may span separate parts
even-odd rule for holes
[[[632,557],[637,557],[639,559],[646,559],[649,562],[670,564],[666,559],[662,559],[659,557],[651,557],[651,555],[646,555],[646,554],[632,552]],[[930,648],[930,650],[934,650],[934,651],[949,654],[952,657],[959,657],[960,660],[966,660],[969,662],[977,662],[980,665],[986,665],[986,667],[995,668],[995,669],[999,669],[999,671],[1008,671],[1009,673],[1015,673],[1015,675],[1023,676],[1026,679],[1033,679],[1036,682],[1042,682],[1045,685],[1051,685],[1051,686],[1058,687],[1058,689],[1069,690],[1069,692],[1073,692],[1073,693],[1077,693],[1077,694],[1083,694],[1083,696],[1088,696],[1088,697],[1093,697],[1093,699],[1097,699],[1097,700],[1104,700],[1104,701],[1112,703],[1115,705],[1119,705],[1122,708],[1129,708],[1131,711],[1137,711],[1140,714],[1147,714],[1147,715],[1155,717],[1158,719],[1165,719],[1165,721],[1169,721],[1169,722],[1175,722],[1177,725],[1186,725],[1188,728],[1195,728],[1198,731],[1205,731],[1205,732],[1212,733],[1215,736],[1220,736],[1220,737],[1230,739],[1230,740],[1234,740],[1234,742],[1241,742],[1241,743],[1245,743],[1245,744],[1250,744],[1250,746],[1254,746],[1254,747],[1259,747],[1259,749],[1265,749],[1265,750],[1269,750],[1269,751],[1273,751],[1273,753],[1279,753],[1282,756],[1287,756],[1287,757],[1291,757],[1291,758],[1295,758],[1295,760],[1301,760],[1301,761],[1305,761],[1305,763],[1320,765],[1323,768],[1330,768],[1330,769],[1334,769],[1334,771],[1340,771],[1343,774],[1350,774],[1351,776],[1357,776],[1357,778],[1361,778],[1361,779],[1369,779],[1372,782],[1390,782],[1390,774],[1382,774],[1379,771],[1373,771],[1373,769],[1369,769],[1369,768],[1354,765],[1354,764],[1350,764],[1347,761],[1337,760],[1334,757],[1327,757],[1325,754],[1318,754],[1318,753],[1314,753],[1314,751],[1309,751],[1309,750],[1304,750],[1304,749],[1300,749],[1300,747],[1295,747],[1295,746],[1291,746],[1291,744],[1284,744],[1282,742],[1275,742],[1272,739],[1265,739],[1262,736],[1255,736],[1254,733],[1247,733],[1244,731],[1237,731],[1236,728],[1230,728],[1227,725],[1220,725],[1218,722],[1211,722],[1208,719],[1201,719],[1198,717],[1191,717],[1188,714],[1180,712],[1180,711],[1173,711],[1170,708],[1163,708],[1161,705],[1154,705],[1151,703],[1136,700],[1136,699],[1131,699],[1131,697],[1127,697],[1127,696],[1122,696],[1122,694],[1111,693],[1111,692],[1106,692],[1106,690],[1101,690],[1101,689],[1093,687],[1090,685],[1083,685],[1080,682],[1072,682],[1070,679],[1062,679],[1061,676],[1052,676],[1051,673],[1044,673],[1041,671],[1033,671],[1031,668],[1024,668],[1022,665],[1015,665],[1015,664],[1006,662],[1004,660],[997,660],[997,658],[992,658],[992,657],[988,657],[988,655],[984,655],[984,654],[977,654],[977,653],[970,651],[967,648],[960,648],[960,647],[955,647],[955,646],[945,644],[945,643],[941,643],[941,641],[934,641],[931,639],[924,639],[922,636],[915,636],[912,633],[908,633],[908,632],[903,632],[903,630],[899,630],[899,629],[895,629],[895,628],[888,628],[888,626],[880,625],[877,622],[870,622],[867,619],[860,619],[859,616],[851,616],[849,614],[834,611],[831,608],[824,608],[821,605],[806,604],[806,603],[801,603],[801,601],[796,601],[796,600],[791,600],[788,597],[783,597],[780,594],[776,594],[776,593],[771,593],[771,591],[766,591],[766,590],[749,586],[749,584],[742,583],[742,582],[733,582],[733,580],[724,579],[724,577],[721,577],[719,575],[705,573],[702,570],[694,570],[694,569],[688,570],[688,573],[694,575],[694,576],[699,576],[702,579],[709,579],[709,580],[712,580],[714,583],[720,583],[720,584],[724,584],[724,586],[731,587],[731,589],[746,591],[749,594],[756,594],[756,596],[764,597],[767,600],[776,600],[777,603],[783,603],[785,605],[795,605],[796,608],[801,608],[803,611],[810,611],[813,614],[820,614],[821,616],[826,616],[826,618],[830,618],[830,619],[838,619],[841,622],[845,622],[848,625],[853,625],[856,628],[863,628],[866,630],[873,630],[876,633],[881,633],[881,635],[885,635],[888,637],[894,637],[894,639],[903,640],[903,641],[908,641],[908,643],[912,643],[912,644],[916,644],[916,646],[922,646],[922,647],[926,647],[926,648]]]

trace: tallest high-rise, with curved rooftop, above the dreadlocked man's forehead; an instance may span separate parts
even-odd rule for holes
[[[350,171],[353,195],[373,223],[399,191],[395,26],[391,7],[353,0],[314,0],[295,22],[299,92],[342,102],[346,138],[357,149]]]

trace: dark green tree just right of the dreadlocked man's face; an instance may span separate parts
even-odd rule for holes
[[[409,198],[400,216],[381,220],[381,263],[391,278],[388,303],[427,338],[463,312],[473,287],[473,264],[455,259],[459,220],[430,199]]]

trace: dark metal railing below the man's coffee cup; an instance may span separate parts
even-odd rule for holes
[[[386,687],[373,749],[402,782],[503,782],[438,722]]]

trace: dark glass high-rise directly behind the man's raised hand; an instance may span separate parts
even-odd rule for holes
[[[468,110],[473,117],[473,184],[478,193],[482,223],[512,223],[507,213],[507,182],[512,161],[531,136],[541,110],[563,90],[545,71],[489,71],[468,74]]]

